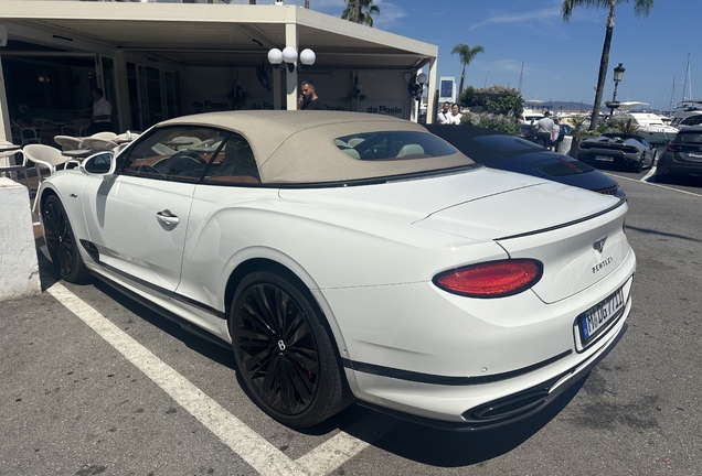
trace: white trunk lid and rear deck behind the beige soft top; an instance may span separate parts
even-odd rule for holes
[[[583,188],[490,169],[379,185],[283,188],[280,197],[485,241],[582,220],[619,203]]]

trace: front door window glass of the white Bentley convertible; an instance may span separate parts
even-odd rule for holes
[[[137,139],[117,164],[120,173],[195,182],[230,132],[204,127],[166,127]]]

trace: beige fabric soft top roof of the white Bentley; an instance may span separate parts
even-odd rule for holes
[[[344,111],[227,111],[183,116],[162,126],[201,125],[244,136],[254,151],[263,183],[318,183],[363,180],[470,165],[456,152],[427,159],[352,159],[333,140],[359,132],[416,131],[415,122],[390,116]]]

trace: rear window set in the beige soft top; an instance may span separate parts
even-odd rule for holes
[[[424,132],[362,132],[334,139],[341,152],[362,161],[427,159],[458,151],[443,140]]]

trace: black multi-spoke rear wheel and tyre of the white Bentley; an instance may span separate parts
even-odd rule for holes
[[[310,426],[342,410],[350,394],[331,333],[294,277],[256,271],[232,300],[234,357],[248,394],[275,420]]]

